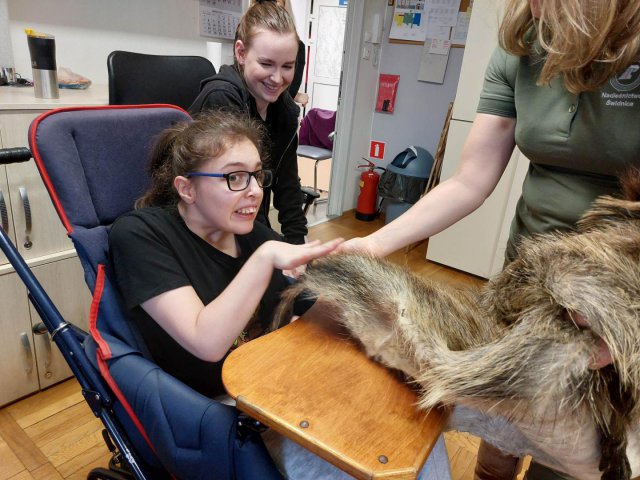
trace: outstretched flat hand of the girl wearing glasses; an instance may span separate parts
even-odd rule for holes
[[[343,241],[342,238],[335,238],[324,243],[314,240],[303,245],[270,241],[263,244],[256,253],[268,259],[273,268],[295,272],[298,267],[306,265],[311,260],[330,254]]]

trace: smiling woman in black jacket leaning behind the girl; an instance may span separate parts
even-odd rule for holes
[[[261,123],[269,137],[272,187],[265,187],[258,221],[269,224],[273,205],[285,241],[304,243],[307,234],[298,178],[298,116],[300,110],[288,88],[294,78],[299,38],[287,11],[274,1],[254,3],[242,16],[234,44],[234,65],[223,65],[206,79],[189,109],[192,114],[212,108],[238,110]]]

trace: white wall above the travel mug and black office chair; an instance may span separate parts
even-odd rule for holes
[[[207,56],[198,0],[7,0],[16,71],[31,78],[25,28],[56,37],[58,67],[107,83],[113,50]],[[216,68],[219,65],[215,65]]]

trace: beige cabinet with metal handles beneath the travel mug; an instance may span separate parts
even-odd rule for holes
[[[107,103],[106,87],[90,90],[62,91],[58,100],[39,100],[31,88],[0,88],[0,146],[28,146],[29,125],[44,111]],[[0,166],[0,195],[0,218],[9,237],[62,316],[86,329],[91,296],[35,162]],[[0,405],[70,377],[49,335],[33,332],[40,317],[4,256],[0,256],[0,306]]]

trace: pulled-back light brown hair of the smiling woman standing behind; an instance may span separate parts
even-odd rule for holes
[[[291,15],[274,0],[257,0],[249,7],[238,24],[236,40],[242,41],[245,48],[250,48],[258,29],[282,35],[293,34],[296,43],[300,41]]]

